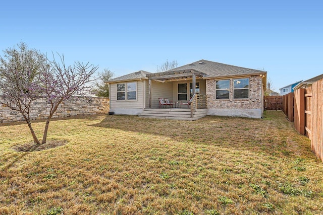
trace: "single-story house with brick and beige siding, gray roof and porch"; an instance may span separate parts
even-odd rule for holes
[[[140,70],[107,82],[110,111],[184,120],[205,115],[261,118],[266,74],[203,59],[163,73]],[[158,98],[176,101],[176,105],[159,108]],[[180,108],[188,100],[190,108]]]

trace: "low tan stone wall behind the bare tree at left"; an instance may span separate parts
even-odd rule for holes
[[[49,114],[49,105],[44,99],[33,102],[30,110],[30,118],[45,119]],[[82,97],[62,102],[53,118],[68,116],[84,116],[93,114],[106,114],[109,112],[109,99],[102,97]],[[0,104],[0,123],[24,121],[25,119],[18,111]]]

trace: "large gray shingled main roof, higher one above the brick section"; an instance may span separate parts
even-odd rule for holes
[[[201,73],[206,74],[204,78],[218,78],[218,77],[253,75],[253,74],[258,75],[258,74],[266,73],[266,71],[228,65],[224,63],[218,63],[218,62],[213,62],[213,61],[208,61],[203,59],[171,69],[169,71],[177,71],[177,70],[185,70],[185,69],[195,69],[197,71],[200,71]]]

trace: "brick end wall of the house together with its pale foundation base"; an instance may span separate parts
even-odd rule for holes
[[[261,118],[262,116],[262,78],[259,75],[249,78],[249,98],[233,98],[233,79],[230,79],[230,98],[216,99],[217,79],[206,80],[207,115],[242,116]]]

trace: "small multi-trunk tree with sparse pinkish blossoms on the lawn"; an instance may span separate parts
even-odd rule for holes
[[[0,104],[19,111],[26,120],[34,142],[44,144],[47,138],[49,121],[59,105],[74,95],[82,95],[90,89],[87,84],[97,70],[89,63],[75,62],[65,65],[64,56],[48,60],[35,49],[24,43],[18,49],[9,48],[0,56]],[[45,98],[50,106],[42,141],[40,142],[31,125],[30,108],[32,102]]]

